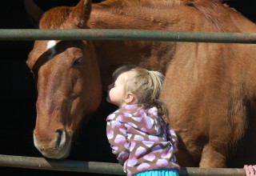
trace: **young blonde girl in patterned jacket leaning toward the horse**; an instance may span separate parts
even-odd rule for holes
[[[120,109],[106,118],[106,133],[118,162],[129,176],[178,176],[178,138],[168,123],[166,105],[158,99],[163,75],[134,66],[121,67],[113,76],[107,101]]]

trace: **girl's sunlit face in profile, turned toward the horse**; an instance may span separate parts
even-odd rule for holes
[[[118,76],[116,81],[112,84],[110,84],[109,90],[108,90],[108,96],[106,98],[107,102],[110,102],[116,106],[121,106],[124,102],[124,92],[123,92],[123,86],[126,81],[126,78],[128,78],[127,72],[122,73]]]

